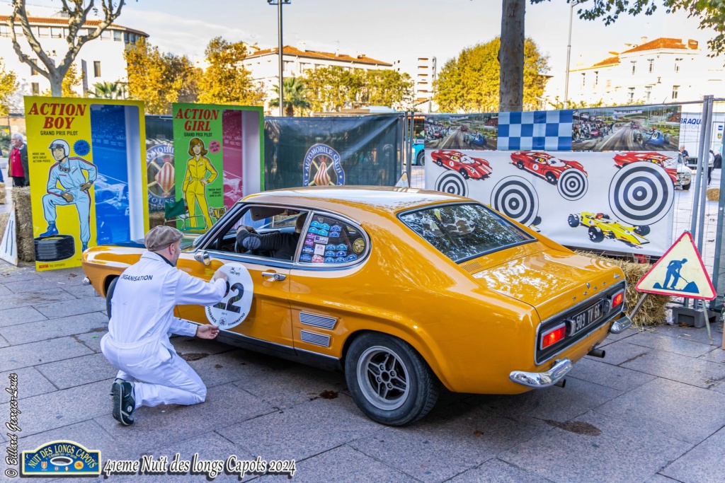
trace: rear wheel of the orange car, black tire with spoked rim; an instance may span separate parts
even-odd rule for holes
[[[378,380],[375,371],[379,371]],[[405,380],[399,379],[400,371]],[[439,382],[426,361],[405,341],[378,332],[365,332],[352,341],[345,356],[345,379],[360,411],[389,426],[421,419],[438,400]],[[380,396],[374,387],[378,382],[384,382],[394,397],[387,392]]]

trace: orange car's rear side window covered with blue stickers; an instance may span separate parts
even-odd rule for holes
[[[315,213],[302,232],[297,263],[331,266],[362,259],[368,242],[357,227],[326,214]]]

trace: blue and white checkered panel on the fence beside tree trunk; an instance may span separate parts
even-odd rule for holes
[[[571,150],[571,109],[563,111],[500,112],[499,151]]]

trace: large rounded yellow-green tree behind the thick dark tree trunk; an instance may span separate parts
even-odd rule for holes
[[[497,112],[499,109],[500,38],[463,49],[445,63],[436,81],[434,100],[441,112]],[[548,56],[526,38],[523,47],[524,109],[536,109],[544,93]]]

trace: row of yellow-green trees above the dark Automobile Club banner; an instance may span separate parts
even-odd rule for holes
[[[342,67],[307,70],[302,77],[312,92],[312,110],[339,112],[363,106],[389,106],[412,109],[413,81],[394,70],[350,72]]]

